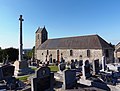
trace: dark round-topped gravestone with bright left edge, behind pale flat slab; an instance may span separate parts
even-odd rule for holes
[[[82,76],[83,79],[89,78],[91,76],[89,60],[86,60],[85,62],[83,61],[82,74],[83,74]]]

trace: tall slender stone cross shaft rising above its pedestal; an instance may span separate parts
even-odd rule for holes
[[[24,21],[24,19],[22,19],[22,15],[20,15],[20,47],[19,47],[19,61],[22,61],[23,60],[23,55],[22,55],[22,52],[23,52],[23,49],[22,49],[22,21]]]

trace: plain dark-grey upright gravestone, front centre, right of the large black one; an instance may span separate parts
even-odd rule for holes
[[[74,69],[68,69],[63,72],[63,88],[72,89],[76,86],[76,71]]]

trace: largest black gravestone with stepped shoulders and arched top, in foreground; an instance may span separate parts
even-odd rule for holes
[[[50,72],[49,67],[41,67],[36,73],[35,77],[31,79],[32,91],[53,91],[54,74]]]

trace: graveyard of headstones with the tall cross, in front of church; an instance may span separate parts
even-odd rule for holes
[[[44,61],[35,61],[34,57],[32,61],[24,60],[22,15],[19,20],[19,60],[12,64],[7,57],[0,66],[0,91],[119,91],[120,64],[107,64],[105,56],[102,60],[66,61],[61,54],[60,61],[52,59],[52,55],[49,59],[46,55]]]

